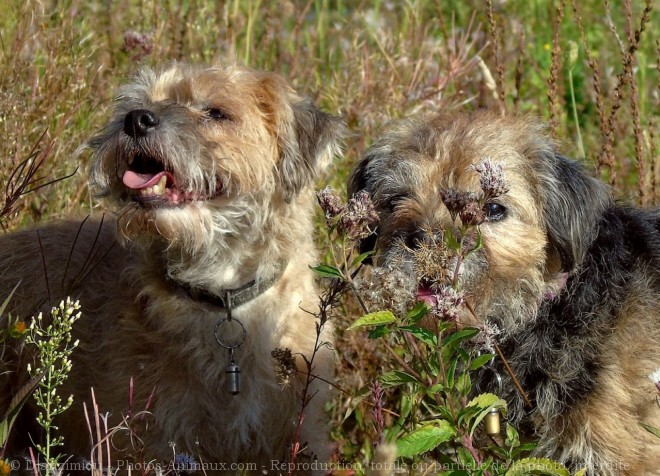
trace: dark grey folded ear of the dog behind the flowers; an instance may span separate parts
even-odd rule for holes
[[[534,167],[548,234],[548,256],[556,255],[560,270],[570,272],[594,240],[598,221],[612,198],[605,184],[556,151],[542,154]]]

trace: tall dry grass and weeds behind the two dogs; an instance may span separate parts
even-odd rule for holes
[[[392,118],[480,107],[548,121],[615,195],[660,203],[658,0],[0,0],[0,212],[11,231],[103,204],[76,149],[141,66],[238,63],[273,70],[352,135],[319,183],[345,193],[351,166]],[[61,180],[60,180],[61,179]],[[319,220],[319,224],[321,220]],[[326,250],[327,238],[319,235]],[[1,272],[1,270],[0,270]],[[1,297],[1,296],[0,296]],[[337,316],[338,384],[391,359]],[[368,409],[329,406],[338,454],[372,457]],[[389,422],[391,424],[391,422]]]

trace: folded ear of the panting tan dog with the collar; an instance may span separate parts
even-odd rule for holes
[[[278,76],[264,76],[260,107],[268,118],[279,149],[278,175],[290,201],[314,183],[341,149],[344,121],[299,97]]]

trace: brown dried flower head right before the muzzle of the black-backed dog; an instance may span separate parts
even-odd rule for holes
[[[431,287],[435,287],[442,285],[451,276],[451,254],[442,233],[427,231],[424,240],[418,242],[415,249],[408,251],[413,256],[418,282],[430,283]]]

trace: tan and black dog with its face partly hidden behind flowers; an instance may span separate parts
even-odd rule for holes
[[[642,427],[660,427],[649,376],[660,367],[660,212],[614,203],[542,124],[485,111],[394,122],[354,169],[349,194],[360,190],[380,216],[363,248],[411,273],[415,248],[456,223],[452,194],[479,197],[460,215],[480,215],[483,242],[459,268],[469,306],[457,319],[499,327],[531,406],[501,362],[481,388],[540,439],[537,455],[591,475],[660,474],[660,440]],[[428,282],[415,286],[432,302]]]

